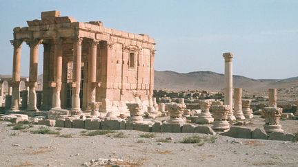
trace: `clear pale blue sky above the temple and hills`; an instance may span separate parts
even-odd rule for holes
[[[12,74],[12,29],[59,10],[80,22],[149,34],[157,43],[155,69],[224,73],[222,53],[233,52],[234,74],[250,78],[298,76],[297,0],[17,0],[0,1],[0,74]],[[40,47],[39,74],[42,73]],[[21,74],[28,76],[23,44]]]

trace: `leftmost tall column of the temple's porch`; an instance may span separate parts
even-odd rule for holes
[[[13,65],[12,65],[12,87],[11,111],[19,111],[19,82],[21,81],[21,43],[23,41],[14,39],[10,41],[14,45]]]

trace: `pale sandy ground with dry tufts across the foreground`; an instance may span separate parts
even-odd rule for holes
[[[0,122],[0,166],[82,166],[91,159],[120,158],[132,166],[297,166],[298,143],[244,140],[217,136],[215,142],[180,143],[183,137],[203,134],[154,133],[139,137],[140,131],[116,131],[109,135],[83,136],[83,129],[57,129],[57,135],[33,134],[34,125],[23,131]],[[123,132],[126,137],[113,135]],[[172,137],[170,143],[157,142]]]

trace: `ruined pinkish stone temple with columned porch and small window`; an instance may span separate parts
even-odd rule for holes
[[[21,45],[30,47],[30,74],[26,86],[28,111],[37,109],[38,50],[43,45],[42,109],[70,109],[79,113],[90,102],[127,102],[137,92],[152,98],[155,41],[146,34],[131,34],[101,21],[77,22],[59,11],[41,12],[41,19],[15,27],[12,104],[19,110]],[[107,102],[108,101],[108,102]]]

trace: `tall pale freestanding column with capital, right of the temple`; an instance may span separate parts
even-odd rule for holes
[[[228,120],[236,120],[232,113],[232,58],[234,55],[230,52],[224,53],[225,60],[225,96],[224,103],[230,106],[230,112],[228,113]]]

